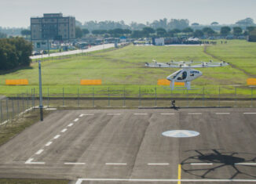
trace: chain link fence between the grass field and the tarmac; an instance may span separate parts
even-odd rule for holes
[[[138,108],[170,107],[171,100],[179,107],[256,107],[254,88],[197,88],[170,90],[149,88],[82,86],[81,88],[43,88],[43,106],[55,108]],[[38,88],[0,100],[0,124],[23,117],[39,105]]]

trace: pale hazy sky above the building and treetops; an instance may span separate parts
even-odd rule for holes
[[[28,27],[30,17],[63,13],[84,23],[90,20],[152,22],[163,18],[190,23],[256,22],[256,0],[0,0],[0,27]]]

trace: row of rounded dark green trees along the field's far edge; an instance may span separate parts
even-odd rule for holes
[[[89,31],[85,28],[76,27],[75,34],[77,38],[82,38],[86,36],[86,34],[94,34],[96,36],[102,36],[104,38],[108,37],[120,37],[120,36],[130,36],[131,38],[149,38],[149,37],[175,37],[179,35],[185,35],[185,36],[193,36],[202,38],[205,37],[211,37],[211,36],[227,36],[229,34],[233,34],[235,36],[240,35],[247,35],[248,32],[254,30],[255,27],[247,27],[247,30],[243,31],[241,27],[228,27],[224,26],[221,27],[220,31],[214,31],[210,27],[203,27],[203,29],[192,29],[192,27],[185,27],[184,29],[172,29],[172,30],[166,30],[163,27],[159,28],[152,28],[152,27],[143,27],[142,30],[133,30],[130,29],[121,29],[121,28],[115,28],[110,30],[93,30]]]

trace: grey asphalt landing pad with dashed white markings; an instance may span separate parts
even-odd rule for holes
[[[0,177],[256,182],[255,118],[255,109],[55,111],[0,147]]]

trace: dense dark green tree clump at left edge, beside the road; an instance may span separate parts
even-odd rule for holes
[[[0,39],[0,70],[29,66],[32,49],[31,42],[24,38]]]

